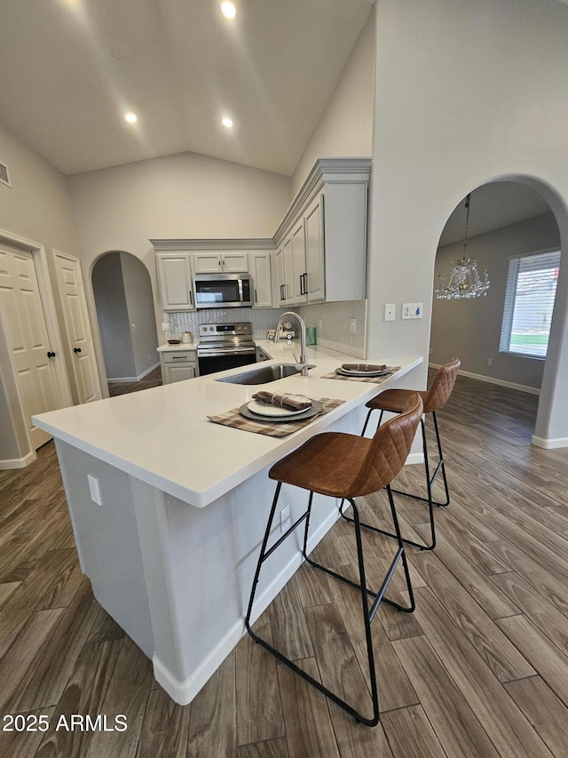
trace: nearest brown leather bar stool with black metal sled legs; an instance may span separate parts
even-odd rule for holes
[[[422,419],[422,398],[418,393],[414,393],[409,396],[406,407],[401,414],[390,419],[383,424],[382,427],[378,428],[374,437],[357,437],[355,435],[347,435],[339,432],[328,432],[321,435],[315,435],[301,445],[296,451],[291,452],[286,458],[283,458],[278,463],[274,464],[269,472],[270,478],[274,479],[277,482],[277,485],[274,499],[272,500],[270,516],[266,525],[266,531],[264,532],[262,548],[258,557],[258,563],[256,564],[256,573],[250,593],[250,599],[248,601],[247,616],[245,618],[248,634],[250,634],[251,637],[266,650],[272,652],[272,654],[282,661],[282,663],[289,666],[296,672],[296,674],[302,676],[307,682],[310,682],[320,692],[323,692],[338,706],[342,707],[343,710],[354,716],[358,722],[367,724],[367,726],[375,726],[379,722],[379,699],[375,674],[375,658],[373,656],[373,643],[371,638],[371,621],[375,618],[375,613],[381,602],[386,602],[393,608],[408,613],[412,613],[414,610],[414,594],[410,583],[408,565],[406,563],[405,548],[400,537],[398,517],[392,498],[390,482],[405,464],[420,419]],[[301,487],[302,489],[309,491],[308,507],[304,514],[292,524],[288,531],[286,531],[280,539],[276,540],[272,547],[268,547],[268,540],[272,529],[274,515],[276,514],[276,507],[282,483],[293,484],[296,485],[296,487]],[[390,568],[383,579],[382,586],[377,592],[373,592],[367,589],[365,561],[359,523],[359,509],[355,503],[355,498],[369,495],[372,492],[383,490],[383,488],[386,489],[388,494],[390,513],[392,515],[394,530],[398,539],[398,548],[396,555],[390,564]],[[353,523],[355,524],[355,541],[359,563],[359,583],[351,581],[351,579],[343,577],[341,574],[337,574],[335,571],[327,569],[319,563],[315,563],[306,553],[314,492],[328,495],[331,498],[347,499],[351,503],[354,515]],[[305,522],[304,546],[302,548],[302,553],[307,563],[316,569],[325,571],[329,576],[340,579],[346,584],[354,587],[359,590],[361,594],[363,621],[367,640],[369,682],[371,686],[371,698],[373,701],[373,716],[371,718],[367,718],[360,714],[359,711],[350,706],[343,698],[335,694],[335,692],[328,690],[321,682],[313,679],[310,674],[307,674],[302,668],[296,666],[292,660],[284,656],[279,650],[276,650],[271,644],[255,634],[250,627],[250,615],[255,600],[256,586],[258,584],[261,567],[264,561],[272,555],[274,550],[276,550],[276,548],[279,547],[302,522]],[[408,606],[399,605],[397,602],[393,602],[384,597],[387,587],[389,586],[390,578],[392,578],[398,566],[398,562],[402,563],[406,577],[406,587],[408,589],[410,603]],[[373,598],[370,605],[369,597]]]

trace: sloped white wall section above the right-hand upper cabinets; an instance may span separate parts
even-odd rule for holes
[[[294,194],[316,158],[372,155],[374,83],[375,9],[369,13],[335,91],[296,165],[292,177]]]

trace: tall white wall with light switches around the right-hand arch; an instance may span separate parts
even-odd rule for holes
[[[568,6],[382,0],[376,13],[368,353],[426,356],[438,239],[469,191],[522,178],[568,249]],[[562,265],[536,428],[566,443],[567,294]],[[422,320],[385,323],[384,303],[403,301],[423,302]]]

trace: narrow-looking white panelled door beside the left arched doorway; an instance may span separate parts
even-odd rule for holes
[[[56,252],[55,264],[79,403],[90,403],[99,400],[101,392],[81,267],[78,259],[63,252]]]

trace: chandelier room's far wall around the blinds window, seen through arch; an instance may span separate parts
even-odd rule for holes
[[[475,197],[472,195],[472,202]],[[540,388],[544,361],[499,352],[509,256],[558,247],[560,238],[552,213],[469,237],[468,257],[477,260],[480,275],[489,271],[491,286],[474,300],[438,300],[432,305],[430,361],[441,365],[458,355],[461,369],[490,379]],[[438,249],[436,274],[446,275],[453,260],[461,259],[463,242]],[[436,283],[438,283],[438,278]],[[487,365],[488,359],[493,366]]]

